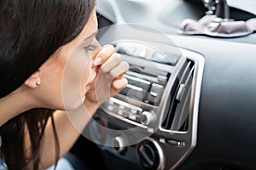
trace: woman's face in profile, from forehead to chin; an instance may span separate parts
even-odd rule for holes
[[[89,84],[96,78],[96,68],[92,66],[100,50],[96,31],[94,9],[79,36],[59,48],[39,68],[38,106],[68,111],[84,103]]]

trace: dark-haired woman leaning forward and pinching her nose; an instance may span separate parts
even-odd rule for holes
[[[94,0],[1,0],[0,13],[1,160],[45,169],[125,88],[129,65],[96,42]]]

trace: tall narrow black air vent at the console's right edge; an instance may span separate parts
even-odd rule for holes
[[[172,131],[187,131],[189,123],[189,106],[195,63],[187,59],[178,74],[171,90],[170,107],[163,119],[162,128]]]

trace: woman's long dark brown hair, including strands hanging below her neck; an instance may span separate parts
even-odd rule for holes
[[[58,48],[77,37],[94,7],[95,0],[1,0],[0,99],[19,88]],[[40,141],[46,122],[51,119],[54,125],[52,113],[33,109],[0,127],[1,155],[9,170],[26,169],[29,161],[38,169]],[[28,161],[23,147],[26,126],[32,141],[32,158]]]

